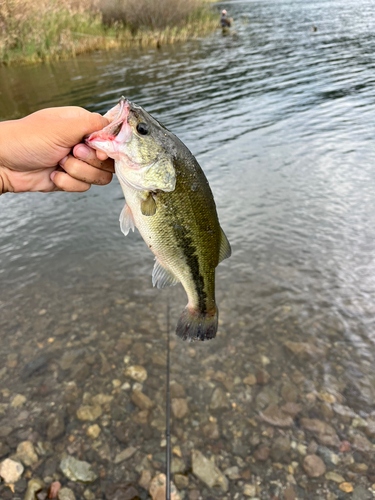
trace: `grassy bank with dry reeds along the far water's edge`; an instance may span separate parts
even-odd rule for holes
[[[205,0],[0,0],[0,64],[161,46],[217,27]]]

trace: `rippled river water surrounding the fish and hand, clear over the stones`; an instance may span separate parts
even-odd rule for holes
[[[1,120],[48,106],[105,112],[121,95],[142,105],[197,157],[233,249],[217,269],[218,336],[186,344],[173,334],[185,293],[152,288],[152,254],[120,232],[117,179],[1,197],[0,453],[30,440],[38,455],[2,498],[23,498],[30,477],[66,484],[65,454],[99,476],[69,483],[79,499],[111,500],[111,484],[164,471],[168,301],[182,497],[372,498],[373,2],[225,7],[228,36],[0,68]],[[129,376],[134,365],[145,381]],[[82,405],[101,415],[84,420]],[[197,451],[218,467],[205,481]]]

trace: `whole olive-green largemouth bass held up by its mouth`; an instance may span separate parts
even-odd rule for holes
[[[125,97],[105,115],[110,121],[85,142],[115,162],[125,196],[124,235],[137,228],[155,255],[154,287],[181,282],[188,304],[176,334],[189,342],[216,336],[215,268],[230,257],[212,191],[183,142]]]

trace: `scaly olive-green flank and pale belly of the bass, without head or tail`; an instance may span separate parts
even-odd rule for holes
[[[211,189],[198,163],[191,163],[176,160],[176,188],[171,193],[157,193],[153,217],[142,214],[137,193],[125,187],[124,195],[150,250],[206,312],[215,303],[221,229],[217,218],[207,217],[207,209],[216,212],[214,203],[207,207],[207,199],[213,200]]]

